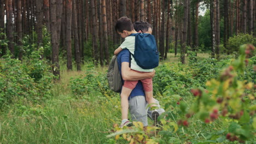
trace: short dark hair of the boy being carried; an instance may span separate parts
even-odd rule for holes
[[[115,31],[123,33],[123,31],[132,31],[133,25],[131,22],[131,19],[129,19],[126,16],[120,17],[120,19],[118,19],[117,23],[115,23]]]

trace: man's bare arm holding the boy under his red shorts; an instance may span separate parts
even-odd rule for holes
[[[139,73],[135,70],[132,70],[129,67],[129,62],[123,62],[121,63],[121,73],[125,81],[137,81],[137,80],[153,78],[155,75],[155,70],[149,73]]]

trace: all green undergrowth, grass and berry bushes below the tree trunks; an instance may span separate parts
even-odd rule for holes
[[[238,60],[201,58],[192,52],[188,64],[160,64],[154,97],[166,112],[159,117],[160,128],[146,131],[141,123],[131,129],[113,127],[121,117],[120,98],[108,88],[106,68],[88,62],[79,73],[62,71],[61,81],[53,83],[41,51],[22,62],[0,59],[0,143],[255,141],[256,57],[246,58],[248,51]]]

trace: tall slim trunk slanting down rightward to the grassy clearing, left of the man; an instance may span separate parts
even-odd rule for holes
[[[75,63],[77,64],[77,70],[81,70],[81,59],[79,51],[79,39],[78,39],[78,29],[77,29],[77,4],[75,1],[72,3],[72,27],[73,27],[73,37],[74,37],[74,48],[75,48]]]

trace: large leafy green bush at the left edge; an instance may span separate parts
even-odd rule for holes
[[[15,99],[37,102],[51,96],[53,74],[39,53],[32,52],[23,62],[9,55],[0,58],[0,107]]]

